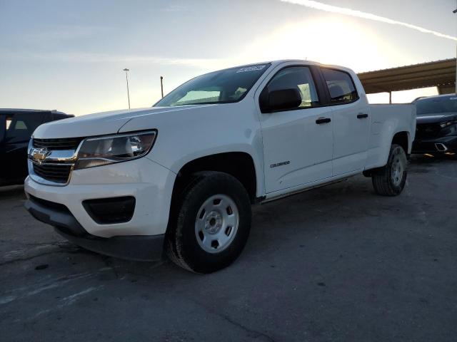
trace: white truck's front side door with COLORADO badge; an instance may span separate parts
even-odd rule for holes
[[[332,112],[323,107],[313,66],[278,67],[266,81],[269,91],[297,89],[301,105],[293,110],[261,113],[266,192],[276,192],[332,175]]]

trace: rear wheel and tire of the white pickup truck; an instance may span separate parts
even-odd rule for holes
[[[386,166],[373,172],[371,181],[374,191],[382,196],[400,195],[405,187],[408,159],[400,145],[393,144],[388,155]]]

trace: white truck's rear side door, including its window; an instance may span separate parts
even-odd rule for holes
[[[321,68],[333,110],[333,176],[363,170],[368,150],[370,117],[365,96],[359,96],[350,73]]]

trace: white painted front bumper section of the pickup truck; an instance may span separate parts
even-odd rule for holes
[[[84,170],[74,170],[66,186],[42,185],[27,177],[28,197],[62,204],[87,234],[111,237],[165,234],[176,174],[148,157]],[[97,223],[84,207],[90,199],[134,197],[134,213],[128,222]],[[56,217],[51,215],[51,217]],[[58,222],[47,222],[62,226]]]

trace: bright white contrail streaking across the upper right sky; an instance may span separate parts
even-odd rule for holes
[[[371,14],[371,13],[366,13],[362,11],[356,11],[353,9],[348,9],[345,7],[339,7],[339,6],[332,6],[332,5],[327,5],[323,4],[318,1],[312,1],[312,0],[280,0],[281,2],[287,2],[289,4],[296,4],[296,5],[301,5],[308,7],[310,9],[319,9],[321,11],[326,11],[326,12],[331,12],[331,13],[337,13],[337,14],[343,14],[346,16],[355,16],[357,18],[362,18],[362,19],[368,19],[368,20],[373,20],[373,21],[379,21],[381,23],[386,23],[386,24],[392,24],[392,25],[398,25],[398,26],[403,26],[407,28],[411,28],[413,30],[422,32],[422,33],[429,33],[433,34],[433,36],[437,36],[440,38],[446,38],[446,39],[451,39],[453,41],[457,41],[457,37],[454,36],[449,36],[447,34],[443,34],[437,31],[432,31],[429,30],[428,28],[423,28],[421,26],[416,26],[408,23],[403,23],[402,21],[396,21],[393,19],[388,19],[383,16],[376,16],[376,14]]]

